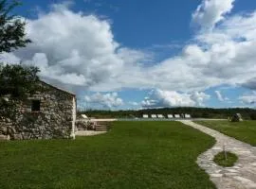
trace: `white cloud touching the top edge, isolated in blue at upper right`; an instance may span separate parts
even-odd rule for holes
[[[204,28],[212,28],[233,8],[234,0],[203,0],[192,14],[192,21]]]

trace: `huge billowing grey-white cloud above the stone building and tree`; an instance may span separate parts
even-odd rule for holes
[[[66,4],[28,19],[27,36],[33,43],[2,60],[36,65],[41,77],[65,84],[95,86],[115,80],[124,63],[129,67],[151,59],[142,51],[122,48],[107,20],[74,12]]]

